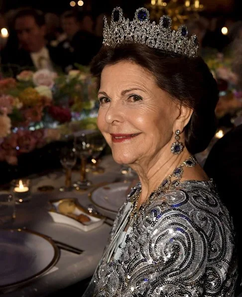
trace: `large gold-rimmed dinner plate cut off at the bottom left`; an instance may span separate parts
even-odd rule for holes
[[[0,230],[0,291],[25,285],[58,259],[59,250],[48,237],[23,229]]]

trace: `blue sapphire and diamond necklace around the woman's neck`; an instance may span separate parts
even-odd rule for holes
[[[150,202],[154,200],[154,198],[156,197],[154,197],[155,192],[158,192],[160,195],[160,193],[165,193],[169,190],[176,188],[180,184],[180,180],[184,172],[183,167],[186,166],[191,168],[194,167],[197,163],[197,160],[193,156],[182,162],[182,164],[176,167],[175,170],[162,181],[159,187],[150,194],[149,198],[142,204],[142,207],[148,206]],[[137,206],[140,194],[141,190],[136,190],[135,194],[131,199],[131,202],[133,202],[133,210],[130,213],[129,222],[132,220],[134,216],[138,214]]]

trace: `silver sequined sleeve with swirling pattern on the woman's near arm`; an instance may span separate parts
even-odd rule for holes
[[[225,283],[233,253],[228,217],[218,207],[217,214],[209,210],[217,204],[213,197],[200,197],[196,206],[188,198],[169,194],[166,203],[153,202],[136,221],[135,241],[128,239],[123,255],[133,296],[217,296]]]

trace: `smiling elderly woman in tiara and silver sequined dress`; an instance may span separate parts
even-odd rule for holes
[[[213,181],[193,154],[216,131],[216,81],[195,36],[171,20],[105,20],[92,65],[100,79],[98,126],[116,162],[140,183],[121,207],[84,296],[234,296],[234,231]]]

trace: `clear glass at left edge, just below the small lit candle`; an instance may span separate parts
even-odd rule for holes
[[[0,226],[5,226],[15,219],[14,196],[7,191],[0,192]]]

